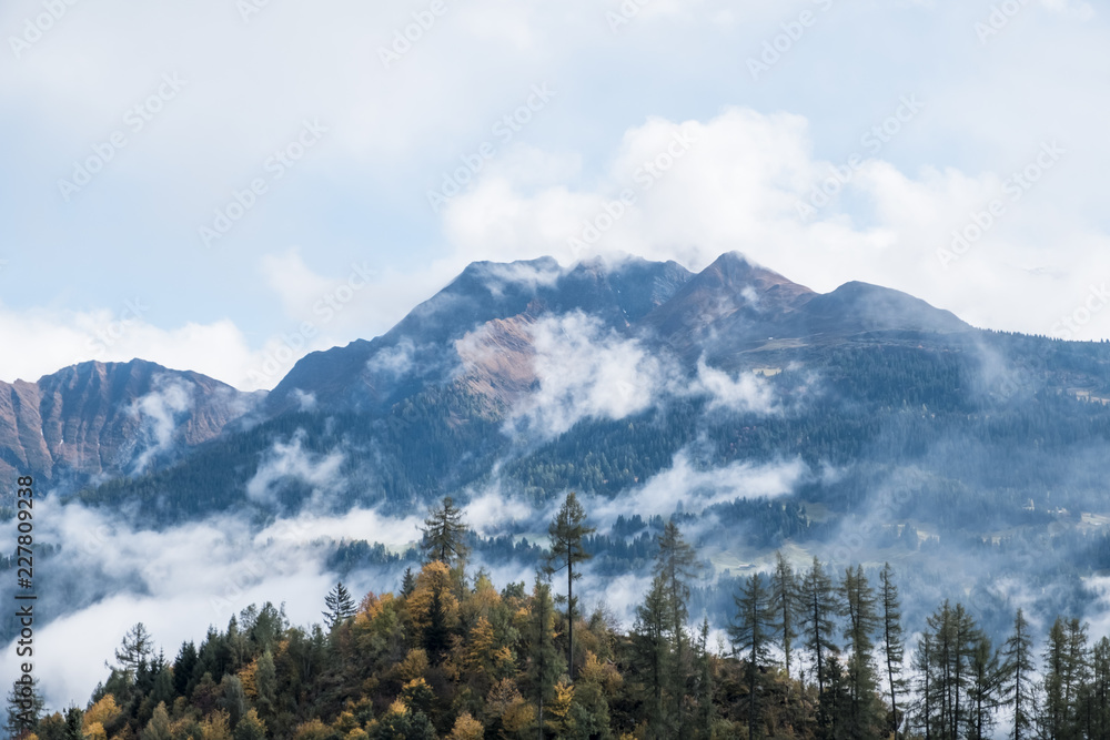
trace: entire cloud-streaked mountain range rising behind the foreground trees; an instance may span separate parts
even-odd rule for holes
[[[978,330],[866,283],[820,294],[737,253],[696,274],[476,263],[264,398],[139,361],[0,391],[4,469],[144,541],[205,520],[250,548],[244,529],[336,517],[300,553],[344,580],[400,575],[396,533],[444,496],[473,507],[476,558],[533,571],[569,490],[595,577],[643,574],[674,517],[725,579],[697,597],[718,625],[727,579],[775,549],[889,560],[915,604],[967,595],[992,635],[1046,595],[1082,615],[1110,571],[1110,344]],[[131,588],[68,572],[58,604]]]

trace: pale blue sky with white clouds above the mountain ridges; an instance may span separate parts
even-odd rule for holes
[[[545,254],[1110,337],[1083,0],[7,0],[0,36],[0,381],[271,388]]]

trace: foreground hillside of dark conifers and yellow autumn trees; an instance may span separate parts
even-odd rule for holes
[[[894,569],[834,572],[781,554],[744,579],[715,648],[690,615],[704,564],[672,519],[622,629],[581,606],[594,528],[577,497],[552,520],[531,589],[468,575],[468,528],[448,497],[424,521],[417,571],[357,604],[343,584],[323,625],[265,604],[173,660],[139,624],[83,708],[9,693],[20,740],[1013,740],[1110,737],[1110,640],[1058,619],[1038,656],[1021,610],[997,648],[945,601],[907,646]],[[874,580],[874,582],[872,582]],[[910,655],[911,653],[911,655]],[[1039,660],[1038,660],[1039,658]],[[27,720],[27,721],[24,721]]]

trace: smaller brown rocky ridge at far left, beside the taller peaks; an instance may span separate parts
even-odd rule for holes
[[[218,437],[256,401],[141,359],[0,383],[0,478],[34,472],[60,485],[142,473]]]

